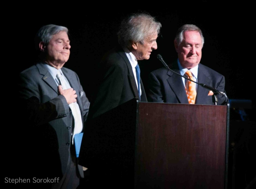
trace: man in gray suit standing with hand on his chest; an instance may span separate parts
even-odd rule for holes
[[[26,124],[23,137],[29,138],[26,176],[34,178],[33,188],[42,184],[76,189],[86,168],[78,164],[74,135],[83,132],[90,102],[78,75],[63,67],[70,56],[68,29],[45,25],[38,31],[36,45],[41,61],[22,71],[18,82]]]

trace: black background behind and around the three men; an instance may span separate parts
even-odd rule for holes
[[[63,3],[63,2],[60,2]],[[183,24],[195,24],[203,31],[205,43],[201,63],[225,76],[225,90],[229,99],[249,100],[252,108],[245,110],[249,121],[241,121],[239,108],[231,109],[229,189],[245,188],[255,176],[255,99],[253,90],[255,76],[255,29],[253,5],[250,4],[212,4],[206,1],[163,5],[154,2],[148,8],[134,8],[135,2],[123,2],[121,6],[102,3],[86,3],[62,6],[46,4],[14,4],[8,7],[8,14],[2,19],[8,22],[3,31],[7,39],[7,51],[3,57],[5,66],[12,68],[15,76],[35,64],[37,51],[34,36],[39,28],[47,24],[63,25],[69,28],[71,54],[64,65],[76,71],[87,97],[93,90],[93,77],[96,64],[102,55],[117,44],[116,32],[121,20],[129,13],[146,11],[162,23],[157,39],[157,50],[149,60],[139,61],[141,77],[147,90],[148,73],[163,67],[157,59],[161,54],[167,64],[177,59],[174,38],[177,29]],[[148,3],[148,2],[147,2]],[[126,5],[127,4],[127,5]],[[129,8],[124,8],[129,6]],[[3,10],[5,7],[3,7]],[[11,39],[11,40],[10,40]],[[2,62],[3,63],[3,62]],[[10,80],[11,81],[11,80]],[[12,83],[12,82],[10,82]],[[15,85],[10,85],[15,104]],[[14,92],[14,93],[13,93]],[[7,101],[6,101],[7,102]],[[244,104],[241,104],[243,107]],[[13,112],[12,106],[10,112]],[[16,112],[17,113],[17,112]],[[16,120],[18,122],[18,120]],[[250,122],[253,121],[253,122]],[[16,122],[15,122],[16,123]],[[11,124],[10,128],[24,127]],[[26,137],[26,136],[25,136]],[[253,141],[253,142],[252,142]],[[26,147],[17,141],[20,147]],[[248,150],[249,149],[249,150]],[[8,157],[8,156],[7,156]],[[8,159],[9,160],[9,159]]]

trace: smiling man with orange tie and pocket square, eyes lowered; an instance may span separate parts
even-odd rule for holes
[[[225,77],[211,68],[201,64],[204,36],[196,25],[181,26],[174,40],[178,59],[170,69],[195,82],[203,83],[219,91],[224,91]],[[148,102],[209,104],[215,105],[214,93],[166,68],[152,71],[148,77]],[[226,102],[222,94],[217,96],[217,104]]]

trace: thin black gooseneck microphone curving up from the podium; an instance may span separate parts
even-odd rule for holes
[[[163,58],[162,58],[162,56],[161,56],[160,54],[157,54],[157,58],[163,63],[163,65],[166,67],[166,69],[168,69],[169,71],[172,71],[172,70],[169,68],[169,66],[164,62],[164,60],[163,60]],[[228,98],[227,98],[227,95],[226,95],[225,93],[223,93],[223,92],[221,92],[221,91],[219,91],[219,90],[217,90],[217,89],[215,89],[215,88],[213,88],[213,87],[210,87],[210,86],[208,86],[208,85],[205,85],[205,84],[203,84],[203,83],[195,82],[195,81],[193,81],[192,79],[189,79],[189,78],[187,78],[187,77],[184,77],[184,76],[180,75],[179,73],[177,73],[177,72],[175,72],[175,71],[172,71],[172,72],[175,73],[175,74],[177,74],[177,75],[179,75],[179,76],[181,76],[181,77],[183,77],[183,78],[185,78],[185,79],[188,79],[188,80],[191,81],[191,82],[194,82],[194,83],[196,83],[196,84],[198,84],[198,85],[201,85],[202,87],[204,87],[204,88],[206,88],[206,89],[212,90],[212,92],[213,92],[213,95],[212,95],[212,102],[213,102],[215,105],[217,105],[217,102],[218,102],[217,94],[221,94],[221,95],[225,96],[225,98],[226,98],[226,99],[225,99],[225,102],[228,103]]]

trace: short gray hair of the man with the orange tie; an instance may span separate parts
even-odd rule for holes
[[[198,31],[201,35],[202,48],[203,48],[203,46],[204,46],[203,32],[201,31],[200,28],[198,28],[196,25],[193,25],[193,24],[185,24],[178,29],[176,36],[175,36],[175,40],[177,41],[178,46],[183,41],[183,34],[185,31]]]

